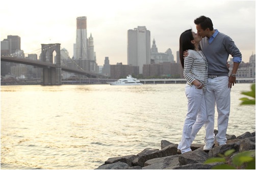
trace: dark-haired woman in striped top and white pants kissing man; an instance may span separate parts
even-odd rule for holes
[[[201,37],[191,29],[186,30],[180,37],[180,59],[187,80],[185,93],[188,98],[182,140],[178,145],[181,153],[191,151],[191,144],[204,121],[207,119],[204,91],[208,80],[208,62],[199,50]],[[183,52],[188,50],[188,56],[183,58]]]

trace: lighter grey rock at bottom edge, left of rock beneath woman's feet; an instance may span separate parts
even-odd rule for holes
[[[177,166],[180,164],[178,162],[178,157],[180,155],[166,156],[162,158],[150,159],[145,162],[145,166],[142,169],[164,169],[170,166]]]

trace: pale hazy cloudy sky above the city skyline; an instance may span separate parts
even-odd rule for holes
[[[255,54],[255,1],[171,1],[171,0],[9,0],[1,1],[0,38],[21,38],[25,56],[41,52],[41,44],[60,43],[73,56],[76,18],[87,17],[87,37],[92,34],[96,62],[127,64],[127,30],[146,26],[150,48],[155,39],[158,52],[172,50],[174,60],[179,38],[192,28],[194,19],[212,19],[214,29],[233,39],[249,62]]]

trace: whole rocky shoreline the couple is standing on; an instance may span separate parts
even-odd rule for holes
[[[217,130],[214,132],[218,133]],[[146,148],[137,155],[109,158],[96,169],[211,169],[221,163],[203,162],[208,158],[217,157],[218,154],[224,154],[227,150],[235,149],[235,153],[228,156],[227,160],[243,151],[255,152],[255,131],[245,132],[238,137],[226,134],[226,138],[226,145],[218,146],[215,142],[215,146],[209,152],[202,150],[203,144],[192,144],[192,151],[184,154],[177,153],[178,144],[163,140],[161,150]]]

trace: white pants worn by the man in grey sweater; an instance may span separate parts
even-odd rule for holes
[[[218,111],[218,134],[216,141],[226,142],[226,129],[228,124],[228,116],[230,111],[230,91],[228,88],[228,77],[220,76],[209,78],[206,88],[206,106],[207,106],[207,121],[204,124],[206,129],[205,142],[214,142],[214,113],[215,104]]]

